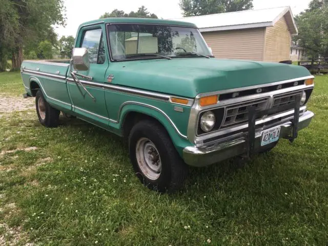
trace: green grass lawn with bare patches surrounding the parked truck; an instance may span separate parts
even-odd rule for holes
[[[24,89],[18,73],[0,73],[0,86],[2,96]],[[0,235],[23,245],[326,245],[328,76],[316,78],[309,109],[316,117],[294,144],[244,166],[192,168],[171,195],[142,186],[125,143],[100,128],[0,112]]]

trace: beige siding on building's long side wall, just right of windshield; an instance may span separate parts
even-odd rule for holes
[[[202,33],[217,58],[263,60],[265,28]]]

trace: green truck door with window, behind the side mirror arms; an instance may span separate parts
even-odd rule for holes
[[[90,69],[76,72],[88,76],[88,78],[77,77],[90,94],[81,85],[75,83],[71,74],[68,79],[68,91],[72,99],[73,110],[79,114],[79,117],[95,122],[97,125],[107,126],[108,112],[103,84],[109,60],[104,36],[105,30],[101,25],[80,29],[75,47],[88,49]]]

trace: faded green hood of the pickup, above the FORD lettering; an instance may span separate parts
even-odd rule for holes
[[[311,75],[294,65],[202,57],[124,61],[110,64],[111,71],[115,85],[190,98]]]

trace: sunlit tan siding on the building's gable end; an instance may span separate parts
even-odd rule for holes
[[[291,33],[285,18],[282,17],[273,27],[267,27],[265,31],[264,60],[289,60],[291,41]]]

